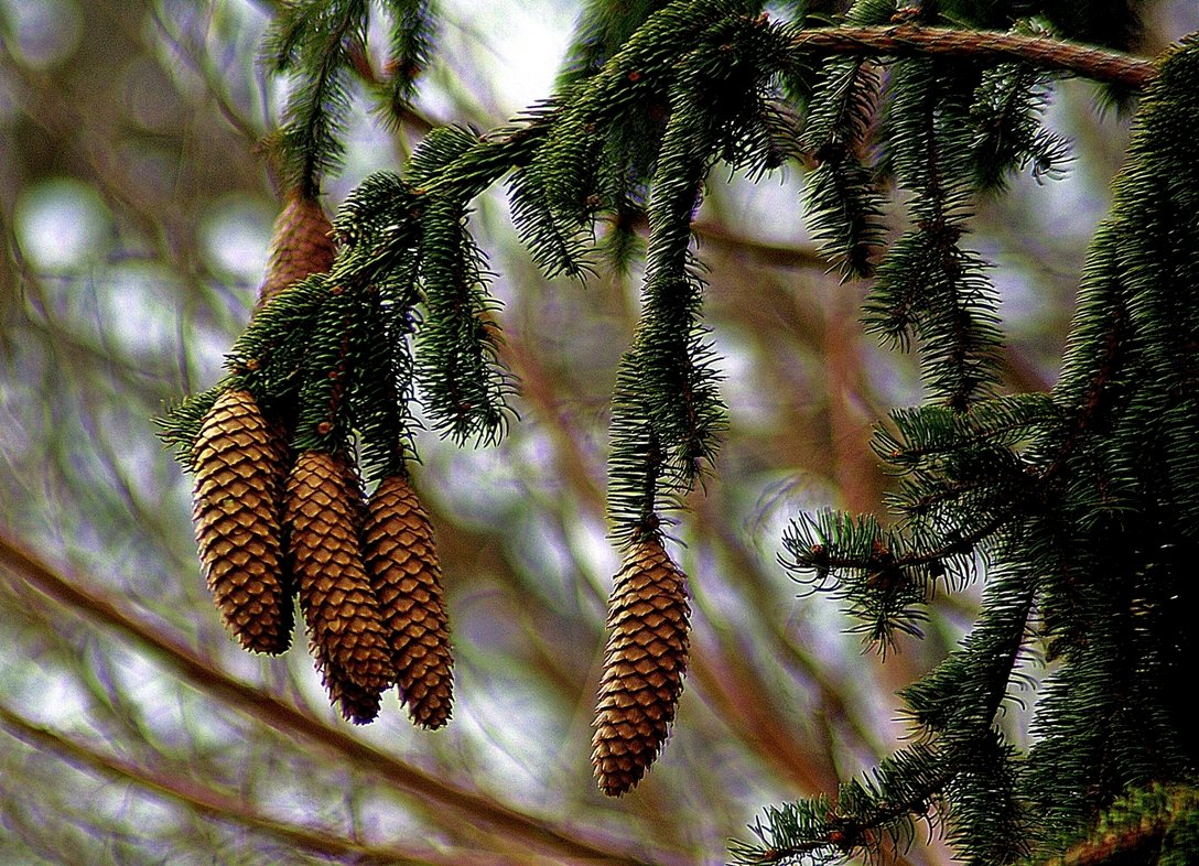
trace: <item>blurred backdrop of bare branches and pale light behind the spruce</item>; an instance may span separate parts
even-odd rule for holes
[[[360,89],[331,210],[399,167],[427,122],[486,130],[550,92],[577,4],[441,6],[416,113],[387,127]],[[258,658],[225,635],[189,480],[153,416],[217,380],[263,277],[278,199],[258,143],[284,95],[255,62],[272,8],[0,0],[0,862],[721,862],[764,805],[872,766],[905,730],[894,691],[969,629],[977,589],[939,599],[926,639],[882,663],[777,561],[805,511],[881,510],[872,426],[921,398],[914,360],[862,335],[863,287],[826,275],[796,169],[757,185],[717,170],[699,215],[730,431],[671,529],[692,667],[634,793],[602,796],[589,756],[619,567],[608,399],[639,275],[547,282],[502,190],[472,227],[522,421],[483,451],[417,439],[456,639],[452,723],[414,729],[390,696],[354,728],[302,643]],[[1195,4],[1153,4],[1137,52],[1193,30]],[[1127,120],[1095,96],[1067,83],[1049,112],[1074,142],[1066,178],[978,205],[1012,391],[1054,383],[1122,160]],[[1005,718],[1017,742],[1025,715]],[[935,841],[905,858],[948,861]]]

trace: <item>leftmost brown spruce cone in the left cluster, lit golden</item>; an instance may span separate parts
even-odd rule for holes
[[[254,652],[291,643],[277,477],[283,452],[248,391],[225,391],[195,440],[195,541],[225,625]]]

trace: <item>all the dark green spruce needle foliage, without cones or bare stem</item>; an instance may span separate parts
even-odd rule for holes
[[[438,130],[403,178],[364,181],[336,219],[330,275],[259,311],[227,378],[174,409],[164,439],[188,463],[204,413],[236,386],[295,447],[356,446],[374,480],[416,457],[414,401],[444,435],[496,441],[514,383],[468,215],[507,176],[517,229],[548,273],[586,277],[597,221],[608,254],[627,261],[647,223],[640,320],[613,396],[608,505],[617,543],[657,534],[712,470],[727,423],[692,242],[705,186],[718,166],[755,179],[814,163],[813,233],[846,278],[875,273],[867,324],[917,348],[932,399],[893,411],[875,439],[897,475],[893,519],[802,517],[784,565],[840,599],[884,652],[896,635],[920,635],[934,593],[982,581],[983,605],[962,645],[903,692],[916,741],[836,799],[769,808],[754,828],[761,844],[737,842],[734,858],[878,858],[924,822],[966,862],[1012,864],[1090,838],[1105,808],[1125,826],[1113,804],[1129,792],[1162,850],[1170,834],[1194,838],[1185,792],[1199,738],[1179,684],[1199,662],[1199,47],[1177,49],[1145,95],[1058,387],[998,396],[998,297],[963,239],[978,194],[1014,172],[1052,178],[1065,161],[1041,126],[1054,78],[1025,62],[856,46],[821,65],[799,42],[811,12],[829,13],[819,6],[788,4],[781,22],[747,0],[594,0],[553,97],[489,134]],[[1108,43],[1132,32],[1129,4],[1085,6],[858,0],[844,22],[1048,23]],[[392,54],[406,59],[390,92],[404,100],[429,16],[420,2],[386,8]],[[272,29],[272,68],[300,77],[284,143],[309,191],[339,155],[364,14],[363,2],[306,2]],[[882,206],[891,184],[900,214]],[[1041,660],[1053,668],[1035,745],[1019,752],[998,717]]]

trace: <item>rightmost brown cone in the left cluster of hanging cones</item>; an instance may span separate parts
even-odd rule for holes
[[[408,482],[392,475],[370,498],[362,555],[384,621],[400,700],[412,721],[440,728],[453,702],[453,655],[433,528]]]

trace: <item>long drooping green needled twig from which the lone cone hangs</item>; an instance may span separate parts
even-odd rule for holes
[[[724,411],[700,325],[691,221],[711,164],[764,166],[773,150],[769,73],[785,30],[729,19],[677,65],[649,202],[641,320],[613,397],[609,515],[621,542],[657,528],[657,497],[689,492],[710,467]],[[718,37],[718,38],[715,38]],[[766,74],[763,74],[764,71]]]

